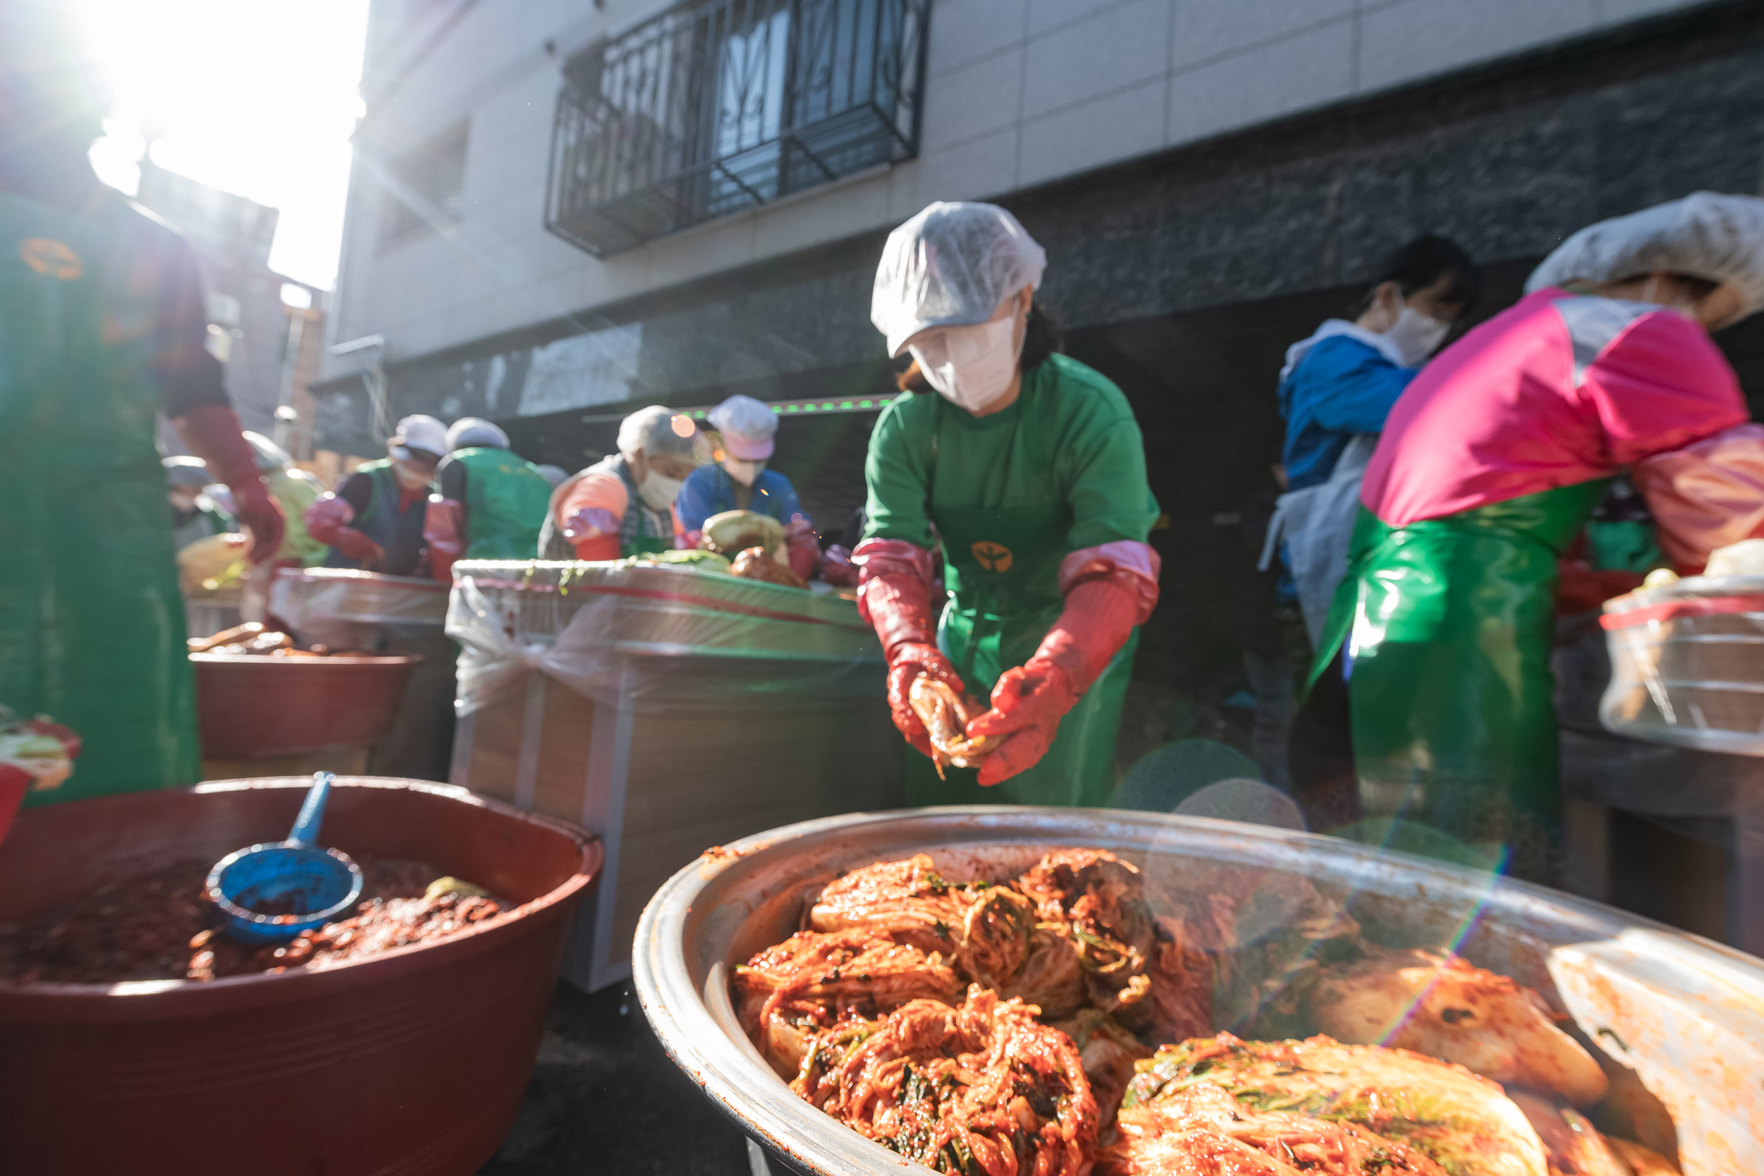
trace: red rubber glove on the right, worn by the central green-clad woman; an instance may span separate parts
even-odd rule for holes
[[[1060,718],[1090,689],[1143,619],[1138,587],[1136,578],[1124,582],[1108,573],[1065,592],[1065,608],[1041,638],[1035,656],[1005,670],[993,686],[993,709],[968,721],[968,739],[1007,735],[981,760],[981,785],[1028,770],[1048,753]]]

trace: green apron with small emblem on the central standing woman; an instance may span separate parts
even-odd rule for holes
[[[1028,661],[1041,638],[1060,617],[1060,561],[1073,529],[1071,502],[1051,478],[1041,478],[1021,499],[1005,506],[937,504],[937,432],[944,400],[937,402],[931,432],[931,522],[944,543],[944,582],[949,601],[937,626],[937,644],[956,666],[968,693],[979,700],[1011,666]],[[1018,413],[1016,444],[1048,471],[1048,450],[1039,414]],[[1134,629],[1101,677],[1060,719],[1048,753],[1027,772],[991,788],[977,783],[979,769],[946,767],[946,779],[923,755],[907,756],[907,804],[1057,804],[1102,808],[1115,792],[1115,735],[1120,707],[1132,677]]]

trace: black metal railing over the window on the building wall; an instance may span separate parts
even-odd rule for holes
[[[930,0],[711,0],[564,67],[545,227],[607,256],[908,159]]]

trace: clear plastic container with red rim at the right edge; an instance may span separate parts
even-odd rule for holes
[[[1764,756],[1764,577],[1692,577],[1605,601],[1605,730]]]

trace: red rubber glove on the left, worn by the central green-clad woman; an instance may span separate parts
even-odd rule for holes
[[[914,748],[931,755],[931,737],[908,700],[921,674],[965,691],[949,658],[937,649],[931,619],[931,554],[901,540],[864,540],[852,562],[859,564],[857,612],[875,626],[887,658],[887,709],[894,726]]]

